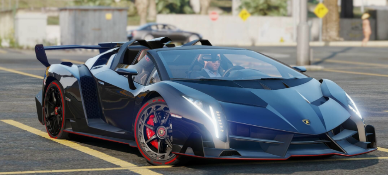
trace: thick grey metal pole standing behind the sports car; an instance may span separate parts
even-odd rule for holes
[[[307,0],[300,0],[300,20],[298,24],[296,65],[310,65],[310,27],[307,24]]]

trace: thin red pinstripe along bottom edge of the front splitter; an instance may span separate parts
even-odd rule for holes
[[[376,151],[376,150],[377,150],[377,148],[375,150],[372,150],[372,151]],[[326,156],[326,155],[338,155],[338,156],[350,157],[350,156],[357,156],[357,155],[361,155],[361,154],[370,153],[372,151],[367,151],[367,152],[364,152],[364,153],[352,154],[352,155],[339,154],[339,153],[316,154],[316,155],[291,155],[290,157],[284,158],[284,159],[201,157],[201,156],[194,156],[194,155],[188,155],[188,154],[177,153],[177,152],[173,152],[173,153],[177,154],[177,155],[190,156],[190,157],[196,157],[196,158],[202,158],[202,159],[283,161],[283,160],[287,160],[287,159],[289,159],[291,157],[312,157],[312,156]]]

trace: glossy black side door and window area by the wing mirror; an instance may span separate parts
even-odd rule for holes
[[[146,51],[140,51],[131,65],[119,63],[117,66],[117,68],[135,68],[138,71],[138,75],[132,76],[135,90],[129,89],[126,76],[118,75],[112,69],[95,75],[106,123],[126,131],[132,130],[130,123],[134,117],[133,106],[136,96],[144,89],[146,79],[155,67],[146,53]]]

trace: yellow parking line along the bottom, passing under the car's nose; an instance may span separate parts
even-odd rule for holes
[[[379,148],[381,149],[381,148]],[[388,157],[362,157],[362,158],[340,158],[340,159],[316,159],[316,160],[299,160],[299,161],[262,161],[262,162],[241,162],[229,164],[210,164],[198,165],[193,167],[209,167],[209,166],[233,166],[233,165],[254,165],[254,164],[283,164],[283,163],[302,163],[302,162],[329,162],[329,161],[357,161],[357,160],[381,160],[388,159]],[[72,170],[45,170],[45,171],[25,171],[25,172],[0,172],[0,175],[14,175],[14,174],[38,174],[38,173],[64,173],[64,172],[93,172],[93,171],[112,171],[112,170],[148,170],[148,169],[165,169],[165,168],[186,168],[173,166],[143,166],[143,167],[119,167],[119,168],[102,168],[102,169],[72,169]]]

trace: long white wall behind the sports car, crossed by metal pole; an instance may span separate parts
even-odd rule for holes
[[[293,20],[288,16],[250,16],[246,21],[238,16],[220,15],[211,21],[208,15],[159,14],[158,23],[168,23],[186,31],[196,32],[213,45],[252,46],[260,43],[293,42]],[[318,19],[312,20],[311,37],[318,39]]]

